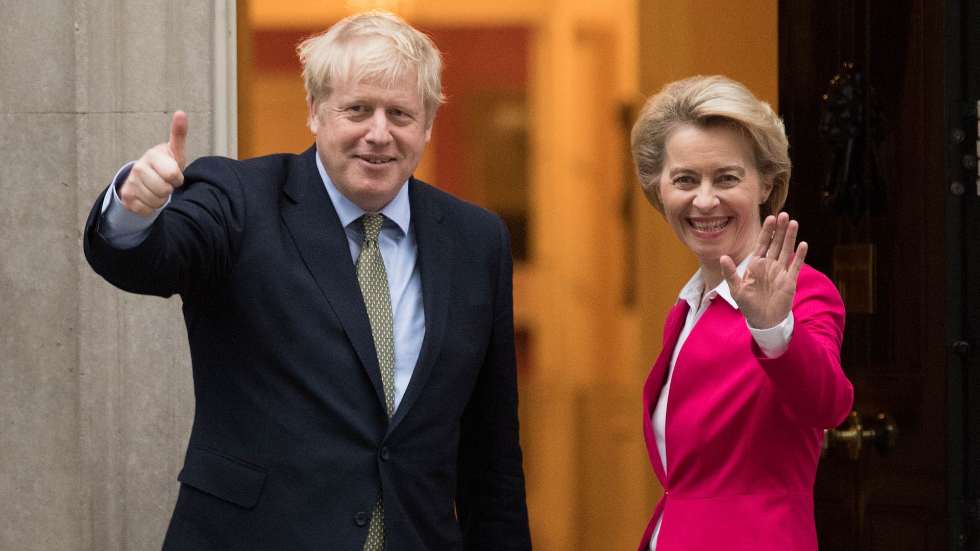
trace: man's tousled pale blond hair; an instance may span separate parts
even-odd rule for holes
[[[307,38],[296,50],[303,65],[307,101],[315,98],[318,107],[344,83],[369,77],[393,86],[412,75],[417,77],[428,127],[445,99],[439,50],[428,36],[394,14],[369,12],[344,18]]]

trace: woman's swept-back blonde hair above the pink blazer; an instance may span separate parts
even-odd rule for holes
[[[772,182],[760,217],[777,214],[786,203],[790,183],[789,141],[783,122],[769,104],[743,84],[725,76],[692,76],[663,86],[647,100],[633,125],[630,143],[643,193],[663,214],[660,180],[665,146],[671,132],[683,125],[733,125],[752,143],[756,169]]]

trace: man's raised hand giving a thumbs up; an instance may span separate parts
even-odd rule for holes
[[[183,184],[186,141],[187,115],[174,112],[170,139],[144,153],[118,190],[127,211],[148,217],[167,203],[173,189]]]

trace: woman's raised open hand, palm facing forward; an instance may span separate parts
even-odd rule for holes
[[[721,274],[728,281],[732,298],[750,326],[768,329],[778,326],[790,314],[796,294],[797,275],[807,258],[807,242],[796,244],[800,225],[786,213],[769,216],[762,223],[752,258],[741,277],[729,256],[722,256]],[[792,261],[792,262],[791,262]]]

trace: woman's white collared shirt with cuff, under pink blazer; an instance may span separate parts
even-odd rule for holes
[[[736,272],[738,275],[745,275],[745,270],[749,266],[749,260],[751,255],[747,256],[738,267]],[[697,325],[701,317],[704,316],[705,311],[711,306],[711,300],[716,297],[721,297],[725,302],[731,305],[732,308],[738,310],[738,304],[735,303],[735,299],[732,298],[731,290],[728,288],[728,281],[722,279],[718,286],[711,289],[711,291],[705,293],[705,298],[701,299],[701,291],[705,288],[705,280],[702,277],[701,270],[695,272],[694,276],[684,285],[684,288],[680,290],[680,295],[678,296],[678,302],[681,300],[687,301],[688,310],[687,318],[684,321],[684,327],[680,331],[680,335],[677,336],[677,344],[674,345],[674,349],[670,354],[670,364],[667,367],[666,381],[663,383],[663,388],[661,389],[661,395],[657,399],[657,406],[654,408],[654,414],[652,416],[651,422],[654,426],[654,440],[657,442],[657,451],[661,454],[661,464],[663,466],[663,473],[667,472],[667,452],[666,452],[666,417],[667,417],[667,394],[670,392],[670,379],[673,377],[674,364],[677,362],[677,355],[680,354],[680,349],[684,346],[684,341],[691,334],[694,326]],[[701,299],[699,304],[698,300]],[[749,326],[749,322],[746,321],[746,326],[752,332],[753,338],[756,339],[756,344],[759,345],[762,354],[765,354],[768,358],[775,358],[786,352],[786,349],[790,345],[790,337],[793,336],[793,312],[790,311],[789,316],[778,326],[770,327],[768,329],[757,329],[753,326]],[[657,520],[657,526],[654,527],[654,533],[650,538],[650,551],[655,551],[657,549],[657,537],[661,533],[661,523],[663,521],[663,516]]]

